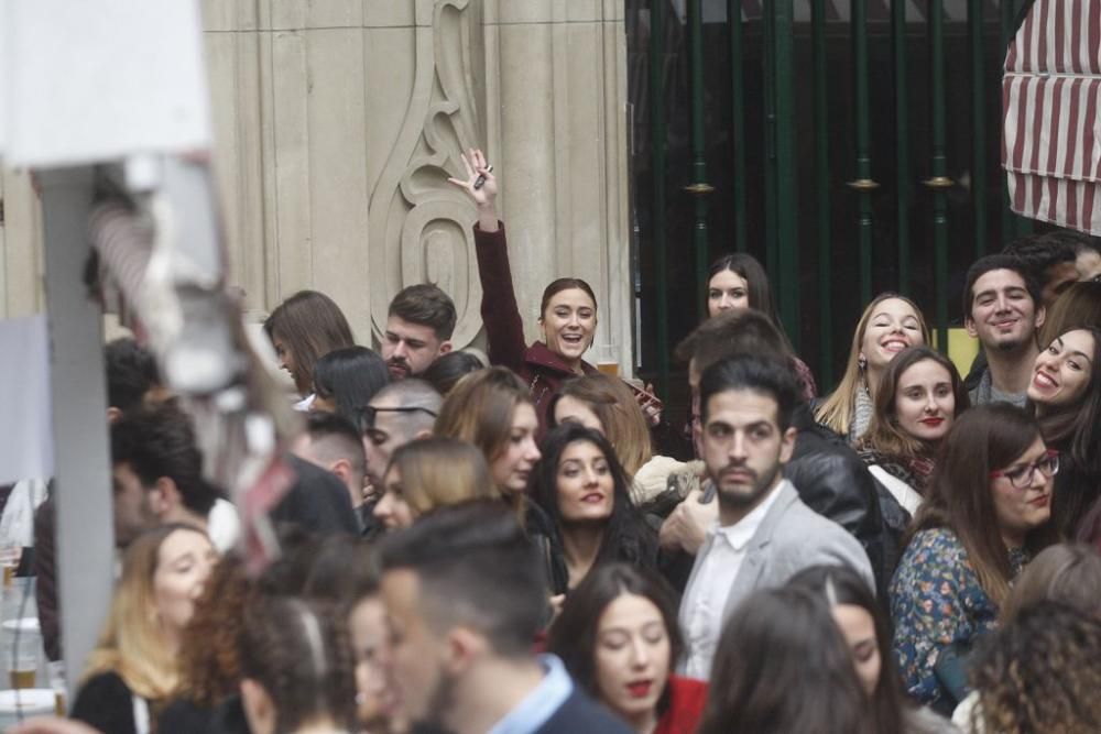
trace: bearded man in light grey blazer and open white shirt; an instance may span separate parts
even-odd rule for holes
[[[696,556],[680,603],[682,672],[707,680],[724,621],[757,589],[778,587],[810,566],[849,566],[875,589],[860,544],[807,507],[784,465],[799,388],[781,362],[742,355],[700,377],[701,448],[719,518]]]

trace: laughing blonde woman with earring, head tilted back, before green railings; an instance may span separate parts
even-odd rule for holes
[[[818,423],[854,445],[871,423],[887,364],[907,347],[928,341],[929,329],[914,302],[893,293],[876,296],[857,322],[841,382],[815,410]]]

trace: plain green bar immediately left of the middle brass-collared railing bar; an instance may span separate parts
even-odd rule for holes
[[[818,229],[818,377],[833,384],[833,251],[829,208],[829,84],[826,66],[826,0],[810,4],[815,70],[815,213]]]

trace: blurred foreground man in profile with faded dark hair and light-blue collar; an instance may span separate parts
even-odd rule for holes
[[[538,552],[499,503],[448,507],[385,537],[384,669],[401,712],[455,734],[628,734],[532,643],[547,605]]]

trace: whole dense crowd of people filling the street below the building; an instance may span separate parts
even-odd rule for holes
[[[586,361],[584,280],[546,287],[525,343],[498,180],[464,161],[489,364],[453,350],[433,284],[395,296],[379,352],[324,294],[272,311],[303,427],[259,576],[155,361],[108,344],[121,572],[72,721],[23,734],[1097,731],[1089,238],[970,267],[966,377],[917,304],[877,296],[824,396],[761,265],[722,258],[673,416]],[[33,571],[57,659],[52,504]]]

